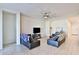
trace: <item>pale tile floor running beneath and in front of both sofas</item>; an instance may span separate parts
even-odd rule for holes
[[[47,38],[42,38],[41,45],[29,50],[23,45],[15,44],[0,50],[1,55],[74,55],[79,54],[79,39],[67,39],[59,48],[47,45]]]

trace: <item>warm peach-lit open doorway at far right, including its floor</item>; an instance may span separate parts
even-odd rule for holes
[[[79,16],[68,19],[68,44],[72,50],[79,49]]]

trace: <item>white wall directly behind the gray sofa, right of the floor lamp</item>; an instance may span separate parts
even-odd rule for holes
[[[51,27],[52,27],[52,33],[60,31],[62,28],[65,32],[67,32],[67,18],[61,18],[52,21]]]

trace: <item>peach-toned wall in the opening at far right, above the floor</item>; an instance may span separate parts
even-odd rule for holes
[[[71,37],[79,35],[79,16],[69,18],[69,34]]]

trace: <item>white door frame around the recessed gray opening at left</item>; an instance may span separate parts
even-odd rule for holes
[[[3,11],[16,15],[16,45],[20,45],[20,12],[8,9],[0,10],[0,49],[3,49]]]

